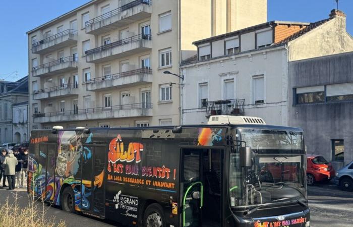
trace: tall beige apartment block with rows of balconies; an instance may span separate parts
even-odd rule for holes
[[[180,124],[181,81],[163,72],[193,40],[266,21],[266,0],[241,2],[92,0],[28,31],[30,129]]]

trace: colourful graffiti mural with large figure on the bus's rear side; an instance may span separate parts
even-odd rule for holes
[[[86,143],[92,140],[90,134]],[[88,197],[92,194],[97,187],[100,188],[103,183],[104,171],[95,177],[94,184],[89,180],[76,180],[75,176],[78,173],[79,166],[81,165],[81,155],[83,161],[92,158],[92,152],[82,146],[83,133],[75,131],[61,131],[57,139],[57,158],[54,157],[48,160],[49,166],[55,166],[55,177],[53,170],[48,166],[43,169],[43,166],[38,163],[34,158],[29,161],[29,175],[28,182],[30,183],[30,193],[35,193],[36,196],[42,199],[53,201],[55,205],[60,205],[60,191],[63,185],[69,184],[75,194],[75,209],[81,210],[81,191],[82,191],[82,206],[86,209],[90,207]],[[49,157],[48,157],[49,158]],[[47,173],[47,175],[46,175]],[[45,179],[45,176],[47,178]]]

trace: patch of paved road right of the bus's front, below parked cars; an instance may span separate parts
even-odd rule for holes
[[[333,184],[308,187],[312,227],[353,226],[353,192]]]

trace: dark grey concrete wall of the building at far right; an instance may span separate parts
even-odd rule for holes
[[[353,159],[353,104],[293,103],[293,88],[353,82],[353,52],[295,61],[289,64],[289,125],[305,132],[308,153],[332,159],[331,140],[344,140],[344,163]],[[334,163],[336,168],[343,163]]]

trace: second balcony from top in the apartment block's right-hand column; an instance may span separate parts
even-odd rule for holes
[[[139,34],[87,50],[86,62],[102,63],[116,58],[144,52],[152,48],[151,35]]]

